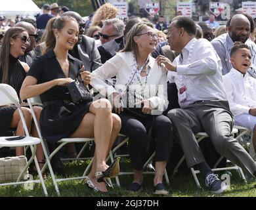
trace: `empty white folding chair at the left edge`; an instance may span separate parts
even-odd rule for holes
[[[3,184],[0,184],[0,186],[16,185],[16,184],[29,184],[29,183],[41,183],[45,196],[48,196],[48,192],[45,187],[45,182],[43,180],[43,177],[42,177],[42,174],[41,174],[38,162],[37,162],[37,158],[35,156],[37,144],[40,144],[40,139],[35,138],[35,137],[30,137],[30,133],[28,132],[28,127],[26,125],[24,116],[22,114],[22,109],[20,107],[20,102],[19,102],[18,95],[17,95],[16,91],[10,85],[0,84],[0,106],[4,106],[7,104],[15,104],[15,106],[18,108],[18,112],[20,114],[20,119],[22,120],[22,125],[24,128],[26,137],[22,138],[21,140],[11,140],[11,141],[6,140],[6,138],[9,138],[9,137],[0,137],[0,148],[29,146],[30,150],[32,151],[32,156],[29,159],[26,166],[24,167],[24,169],[22,169],[22,172],[18,176],[18,179],[16,180],[16,182],[3,183]],[[22,179],[22,176],[24,175],[24,173],[30,166],[30,163],[32,163],[32,161],[35,161],[35,167],[36,167],[37,173],[39,175],[39,180],[20,181]]]

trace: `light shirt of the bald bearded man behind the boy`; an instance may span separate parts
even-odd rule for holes
[[[215,39],[213,39],[211,43],[213,44],[215,51],[221,58],[221,64],[223,66],[222,72],[223,72],[223,75],[225,75],[228,72],[230,72],[230,70],[232,69],[232,64],[230,62],[230,51],[232,47],[234,47],[234,41],[232,41],[228,33],[224,33],[222,35],[219,35],[219,37],[216,37]],[[251,56],[252,56],[251,68],[249,68],[247,72],[249,73],[249,75],[251,75],[251,77],[255,78],[256,77],[256,71],[255,71],[256,70],[256,45],[250,39],[247,39],[245,41],[245,44],[251,50]]]

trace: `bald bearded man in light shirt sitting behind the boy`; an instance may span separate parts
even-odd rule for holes
[[[245,43],[249,46],[252,54],[252,64],[248,73],[252,77],[256,77],[256,45],[249,38],[251,31],[251,24],[244,14],[236,14],[230,20],[228,26],[228,33],[219,35],[213,39],[211,43],[219,57],[221,58],[222,74],[225,75],[230,72],[232,64],[230,63],[230,51],[235,42]]]

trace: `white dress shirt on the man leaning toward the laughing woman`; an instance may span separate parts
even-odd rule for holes
[[[206,39],[193,38],[182,49],[181,54],[173,60],[173,64],[177,66],[177,72],[168,72],[169,81],[177,85],[181,108],[197,100],[226,100],[221,75],[221,59],[211,43]],[[184,85],[186,100],[181,102],[179,89]]]

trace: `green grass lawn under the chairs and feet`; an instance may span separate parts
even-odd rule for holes
[[[85,167],[87,166],[86,161],[79,162],[68,162],[64,163],[64,171],[68,175],[77,174],[81,176]],[[131,164],[129,161],[121,161],[120,163],[121,169],[131,169]],[[224,172],[223,172],[224,173]],[[221,174],[219,176],[221,177]],[[200,177],[200,175],[199,175]],[[133,180],[132,176],[122,175],[119,176],[119,180],[121,183],[121,187],[118,187],[114,184],[114,189],[111,190],[114,192],[112,196],[119,197],[152,197],[152,188],[153,188],[153,175],[145,175],[144,183],[142,190],[136,193],[127,192],[125,187]],[[242,179],[240,179],[238,173],[236,171],[232,171],[232,177],[230,179],[230,188],[226,192],[220,195],[215,195],[207,192],[207,189],[204,186],[203,179],[200,177],[200,184],[202,189],[196,186],[196,182],[192,177],[192,173],[190,171],[179,171],[177,175],[169,175],[170,184],[166,185],[169,190],[169,197],[255,197],[256,196],[256,181],[244,184]],[[112,179],[112,182],[115,183],[115,179]],[[56,196],[56,192],[54,190],[53,184],[51,182],[50,175],[47,175],[47,179],[45,180],[45,184],[47,186],[47,190],[49,196]],[[97,197],[97,196],[110,196],[104,195],[97,192],[93,192],[87,185],[84,180],[72,180],[65,182],[58,182],[58,186],[60,189],[61,196],[65,197]],[[33,190],[24,190],[23,186],[1,186],[0,187],[0,197],[27,197],[27,196],[35,196],[41,197],[44,196],[43,190],[41,188],[41,184],[35,184]]]

